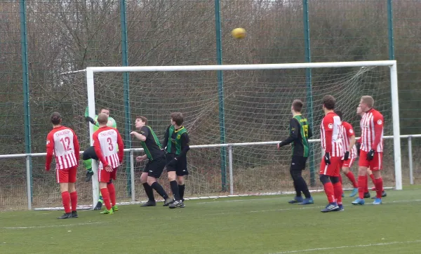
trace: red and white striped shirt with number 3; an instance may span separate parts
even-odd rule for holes
[[[116,168],[123,161],[123,139],[116,128],[105,126],[95,131],[93,133],[93,148],[100,160],[100,169],[106,166]]]

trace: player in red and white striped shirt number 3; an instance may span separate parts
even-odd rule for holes
[[[119,131],[108,127],[108,115],[98,115],[99,128],[93,133],[93,148],[98,156],[98,180],[100,192],[105,203],[105,210],[101,214],[112,214],[119,210],[116,206],[116,189],[112,180],[116,180],[117,168],[123,162],[124,144]]]

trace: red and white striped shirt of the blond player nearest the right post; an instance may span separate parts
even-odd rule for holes
[[[384,119],[380,112],[370,109],[363,115],[361,126],[361,150],[369,152],[383,152],[383,124]]]

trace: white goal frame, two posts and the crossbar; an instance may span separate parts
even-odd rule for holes
[[[390,92],[392,100],[392,127],[394,140],[394,173],[396,189],[402,189],[401,173],[401,140],[399,131],[399,99],[396,60],[359,61],[359,62],[314,62],[287,63],[262,65],[185,65],[185,66],[145,66],[145,67],[87,67],[86,81],[88,93],[89,115],[95,116],[95,73],[98,72],[201,72],[201,71],[241,71],[241,70],[269,70],[269,69],[312,69],[339,67],[389,67]],[[90,125],[91,145],[93,145],[93,126]],[[93,206],[99,197],[98,166],[93,163]]]

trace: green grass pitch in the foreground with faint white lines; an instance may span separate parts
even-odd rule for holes
[[[349,195],[349,192],[345,192]],[[374,192],[371,192],[373,195]],[[388,192],[381,206],[368,201],[321,213],[290,205],[291,196],[186,201],[186,208],[120,206],[113,215],[79,211],[0,213],[0,253],[420,253],[421,189]]]

